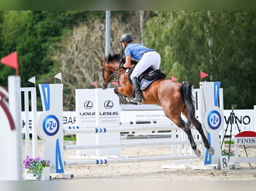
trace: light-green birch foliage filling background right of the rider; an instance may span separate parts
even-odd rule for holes
[[[255,11],[165,11],[147,22],[144,42],[161,55],[167,77],[199,88],[220,81],[224,109],[252,109],[256,99]]]

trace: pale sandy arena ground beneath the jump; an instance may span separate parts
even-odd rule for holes
[[[75,144],[75,141],[65,141],[64,144]],[[38,141],[38,156],[41,155],[42,141]],[[229,145],[225,145],[227,149]],[[121,149],[122,156],[145,157],[170,155],[170,147],[150,147]],[[234,149],[234,145],[231,145]],[[242,156],[246,156],[243,146],[240,149]],[[23,140],[23,159],[25,159],[25,141]],[[248,156],[256,156],[256,148],[248,145]],[[31,151],[32,152],[32,151]],[[65,160],[70,155],[76,155],[76,150],[65,150]],[[73,174],[69,180],[256,180],[256,163],[240,163],[240,169],[231,170],[195,170],[195,169],[162,169],[162,165],[170,161],[132,162],[103,165],[74,165],[65,166],[65,174]],[[201,164],[196,160],[195,164]],[[63,180],[52,178],[52,180]]]

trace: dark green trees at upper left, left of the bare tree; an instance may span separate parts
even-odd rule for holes
[[[28,79],[36,76],[36,83],[52,83],[58,67],[50,57],[55,44],[80,22],[102,18],[105,12],[96,11],[5,11],[0,12],[0,57],[18,52],[21,86],[30,87]],[[2,21],[2,22],[1,22]],[[15,70],[0,65],[0,84],[7,87],[7,77]],[[51,78],[49,78],[51,77]],[[39,94],[39,92],[38,92]],[[38,98],[37,108],[41,110]]]

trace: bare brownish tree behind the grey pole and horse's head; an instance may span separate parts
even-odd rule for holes
[[[111,19],[111,52],[122,52],[119,39],[124,31],[139,35],[128,24],[121,24],[121,18]],[[105,23],[101,20],[88,21],[75,27],[72,33],[66,35],[55,51],[52,61],[59,66],[62,74],[63,109],[75,109],[75,89],[94,88],[92,82],[100,83],[100,61],[105,54]]]

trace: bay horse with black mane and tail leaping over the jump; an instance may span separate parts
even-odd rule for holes
[[[102,73],[101,88],[106,90],[111,81],[116,81],[119,75],[121,87],[115,88],[114,92],[123,101],[129,101],[129,97],[133,95],[133,86],[128,81],[128,73],[126,69],[119,67],[119,62],[124,59],[121,54],[109,54],[105,59],[100,58]],[[132,61],[129,69],[136,66],[137,61]],[[195,154],[200,157],[201,150],[197,149],[191,133],[191,124],[193,124],[202,136],[203,142],[211,155],[214,155],[214,148],[210,147],[202,124],[195,117],[195,100],[192,95],[193,87],[190,82],[180,84],[177,81],[166,78],[159,78],[152,82],[145,90],[141,91],[142,103],[161,105],[166,117],[180,127],[188,136],[191,148]],[[185,122],[181,118],[181,113],[187,118]]]

